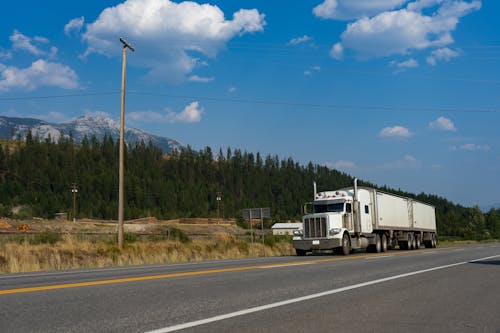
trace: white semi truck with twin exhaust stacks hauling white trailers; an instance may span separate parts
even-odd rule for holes
[[[369,187],[317,192],[304,205],[302,230],[294,231],[298,256],[314,250],[333,250],[348,255],[356,249],[385,252],[437,244],[434,206]]]

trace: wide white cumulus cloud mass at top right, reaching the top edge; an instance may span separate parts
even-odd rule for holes
[[[326,0],[314,9],[318,17],[353,20],[341,34],[330,56],[339,59],[350,49],[361,58],[407,55],[416,50],[444,49],[454,42],[460,19],[481,8],[480,0],[410,1]],[[436,50],[437,51],[437,50]],[[451,50],[450,50],[451,51]],[[439,51],[428,62],[458,54]]]

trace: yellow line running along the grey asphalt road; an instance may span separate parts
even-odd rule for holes
[[[429,252],[429,251],[438,251],[438,250],[444,250],[444,249],[441,248],[441,249],[433,249],[433,250],[421,250],[420,252]],[[417,252],[399,252],[399,253],[396,252],[393,254],[394,255],[403,255],[403,254],[414,254],[414,253],[417,253]],[[208,275],[208,274],[227,273],[227,272],[249,271],[249,270],[260,269],[260,268],[278,268],[278,267],[284,267],[284,266],[319,264],[319,263],[327,263],[327,262],[332,262],[332,261],[365,259],[365,258],[385,256],[385,255],[386,254],[365,254],[365,255],[360,255],[360,256],[355,256],[355,257],[337,257],[337,258],[315,259],[315,260],[305,260],[305,261],[290,261],[290,262],[275,263],[275,264],[252,265],[252,266],[230,267],[230,268],[220,268],[220,269],[207,269],[207,270],[201,270],[201,271],[169,273],[169,274],[160,274],[160,275],[147,275],[147,276],[137,276],[137,277],[130,277],[130,278],[120,278],[120,279],[75,282],[75,283],[45,285],[45,286],[17,288],[17,289],[4,289],[4,290],[0,290],[0,295],[20,294],[20,293],[29,293],[29,292],[35,292],[35,291],[68,289],[68,288],[78,288],[78,287],[90,287],[90,286],[99,286],[99,285],[115,284],[115,283],[127,283],[127,282],[137,282],[137,281],[169,279],[169,278],[175,278],[175,277],[187,277],[187,276]]]

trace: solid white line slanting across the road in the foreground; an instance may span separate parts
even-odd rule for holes
[[[500,257],[500,255],[484,257],[484,258],[479,258],[479,259],[474,259],[474,260],[469,260],[469,261],[461,261],[461,262],[457,262],[454,264],[432,267],[432,268],[428,268],[428,269],[422,269],[419,271],[389,276],[386,278],[377,279],[377,280],[368,281],[368,282],[363,282],[363,283],[358,283],[358,284],[354,284],[354,285],[347,286],[347,287],[332,289],[332,290],[324,291],[324,292],[317,293],[317,294],[311,294],[311,295],[307,295],[307,296],[292,298],[292,299],[284,300],[281,302],[270,303],[270,304],[256,306],[253,308],[248,308],[248,309],[244,309],[244,310],[240,310],[240,311],[226,313],[226,314],[211,317],[211,318],[196,320],[196,321],[192,321],[192,322],[188,322],[188,323],[184,323],[184,324],[179,324],[179,325],[174,325],[174,326],[169,326],[169,327],[164,327],[164,328],[160,328],[157,330],[148,331],[147,333],[167,333],[167,332],[180,331],[180,330],[190,328],[190,327],[205,325],[205,324],[209,324],[209,323],[213,323],[213,322],[217,322],[217,321],[221,321],[221,320],[225,320],[225,319],[229,319],[229,318],[247,315],[247,314],[254,313],[254,312],[269,310],[269,309],[277,308],[280,306],[285,306],[285,305],[294,304],[294,303],[298,303],[298,302],[308,301],[308,300],[312,300],[315,298],[324,297],[324,296],[328,296],[328,295],[338,294],[338,293],[341,293],[344,291],[358,289],[358,288],[362,288],[362,287],[366,287],[366,286],[371,286],[374,284],[383,283],[383,282],[387,282],[387,281],[391,281],[391,280],[401,279],[401,278],[408,277],[408,276],[437,271],[440,269],[451,268],[451,267],[460,266],[460,265],[464,265],[464,264],[471,263],[471,262],[488,260],[488,259],[493,259],[493,258],[498,258],[498,257]]]

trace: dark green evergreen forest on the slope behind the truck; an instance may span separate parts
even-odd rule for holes
[[[270,207],[274,221],[300,219],[303,203],[312,199],[313,181],[321,191],[351,186],[353,178],[326,166],[240,149],[214,154],[209,147],[187,147],[164,154],[140,143],[125,149],[125,218],[238,218],[244,208]],[[118,142],[85,138],[76,145],[71,138],[55,143],[28,135],[25,141],[0,144],[0,216],[71,215],[74,185],[77,218],[116,219]],[[377,188],[369,182],[360,185]],[[440,235],[500,238],[498,209],[483,214],[477,206],[463,207],[435,195],[379,189],[434,205]]]

